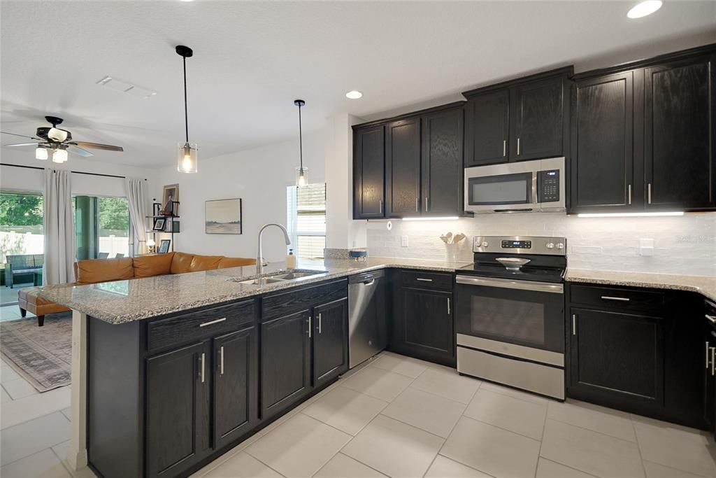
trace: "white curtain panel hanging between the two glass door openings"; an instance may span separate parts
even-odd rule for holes
[[[70,171],[44,170],[44,284],[74,282],[77,254]]]

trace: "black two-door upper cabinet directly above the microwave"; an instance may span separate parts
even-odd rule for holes
[[[561,68],[463,93],[465,166],[564,156],[572,72]]]

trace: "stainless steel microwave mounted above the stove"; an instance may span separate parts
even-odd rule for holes
[[[465,211],[566,211],[564,158],[465,168]]]

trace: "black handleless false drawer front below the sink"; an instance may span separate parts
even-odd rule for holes
[[[299,310],[309,310],[316,304],[325,304],[344,297],[348,297],[347,279],[267,295],[261,300],[261,321],[291,315]]]

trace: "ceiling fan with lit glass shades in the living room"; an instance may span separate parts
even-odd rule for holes
[[[122,146],[113,146],[101,143],[89,143],[88,141],[74,141],[72,140],[72,133],[67,130],[57,128],[57,125],[62,124],[62,118],[56,116],[45,116],[45,119],[52,125],[52,127],[41,126],[37,128],[36,136],[19,135],[17,133],[9,133],[8,131],[0,131],[6,135],[21,136],[22,138],[29,138],[34,140],[32,143],[15,143],[6,146],[35,146],[35,158],[36,159],[47,159],[49,158],[49,151],[52,151],[52,161],[55,163],[64,163],[67,161],[67,152],[77,154],[78,156],[93,156],[87,149],[102,149],[105,151],[123,151]]]

